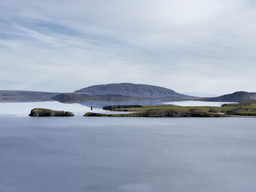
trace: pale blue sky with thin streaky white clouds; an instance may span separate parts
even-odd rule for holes
[[[256,1],[1,0],[0,90],[256,92]]]

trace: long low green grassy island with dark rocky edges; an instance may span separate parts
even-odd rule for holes
[[[144,117],[227,117],[227,116],[256,116],[255,102],[240,102],[238,104],[223,104],[221,107],[213,106],[104,106],[109,111],[131,111],[127,114],[101,114],[86,113],[84,116],[144,116]]]

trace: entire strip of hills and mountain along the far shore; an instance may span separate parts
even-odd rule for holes
[[[220,97],[193,97],[160,86],[148,84],[113,83],[89,86],[73,93],[51,93],[2,90],[0,102],[40,102],[56,100],[76,103],[88,100],[201,100],[218,102],[250,102],[256,100],[255,92],[234,92]]]

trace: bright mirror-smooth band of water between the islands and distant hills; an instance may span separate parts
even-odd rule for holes
[[[163,104],[173,104],[179,106],[221,106],[228,102],[203,102],[203,101],[193,101],[193,100],[89,100],[81,103],[74,104],[63,104],[57,101],[47,101],[47,102],[7,102],[0,103],[0,115],[24,115],[28,116],[30,110],[33,108],[45,108],[53,109],[58,111],[71,111],[75,115],[83,115],[87,112],[93,113],[116,113],[113,111],[104,111],[103,106],[111,105],[163,105]],[[93,106],[93,110],[91,110]],[[120,113],[120,112],[118,112]],[[124,112],[125,113],[125,112]]]

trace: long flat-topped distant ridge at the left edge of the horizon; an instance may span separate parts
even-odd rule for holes
[[[50,101],[60,93],[0,90],[0,102]]]

